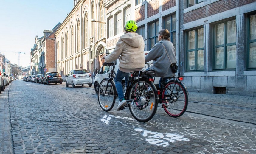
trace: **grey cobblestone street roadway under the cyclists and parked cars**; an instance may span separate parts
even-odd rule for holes
[[[15,80],[0,95],[0,154],[256,153],[254,108],[237,108],[250,110],[244,120],[219,117],[221,105],[205,99],[203,105],[217,108],[207,108],[209,116],[206,107],[196,111],[200,103],[190,97],[193,93],[183,116],[172,118],[159,106],[153,119],[141,123],[128,108],[116,111],[115,105],[104,112],[93,86]]]

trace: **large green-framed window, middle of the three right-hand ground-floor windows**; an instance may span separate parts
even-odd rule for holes
[[[214,28],[213,70],[234,71],[236,68],[236,21],[217,23]]]

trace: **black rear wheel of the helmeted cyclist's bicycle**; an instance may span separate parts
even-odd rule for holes
[[[127,92],[127,100],[132,116],[139,122],[148,122],[153,118],[157,110],[158,95],[152,82],[145,79],[134,81],[134,87],[130,86]]]

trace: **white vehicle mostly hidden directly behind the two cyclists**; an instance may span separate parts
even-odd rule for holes
[[[148,54],[149,51],[144,51],[144,56],[146,56]],[[148,63],[152,63],[152,61],[148,62]],[[114,73],[117,72],[118,70],[118,65],[119,65],[119,59],[117,59],[116,61],[116,65],[115,65],[115,70],[114,70]],[[145,64],[145,66],[147,66]],[[98,73],[95,75],[95,78],[94,78],[94,89],[95,89],[95,92],[96,94],[98,94],[98,90],[99,90],[99,86],[100,86],[100,82],[105,79],[105,78],[108,78],[110,76],[109,74],[109,70],[112,70],[113,66],[101,66],[100,69],[98,69]],[[143,68],[142,70],[145,70],[145,68]],[[154,84],[156,85],[156,87],[159,87],[158,86],[158,83],[159,83],[159,77],[155,77],[155,80],[154,80]],[[122,86],[123,86],[123,91],[126,91],[126,87],[125,87],[125,79],[122,80]]]

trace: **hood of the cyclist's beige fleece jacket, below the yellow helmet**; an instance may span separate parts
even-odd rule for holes
[[[120,37],[129,46],[138,48],[144,42],[142,36],[137,33],[126,33]]]

